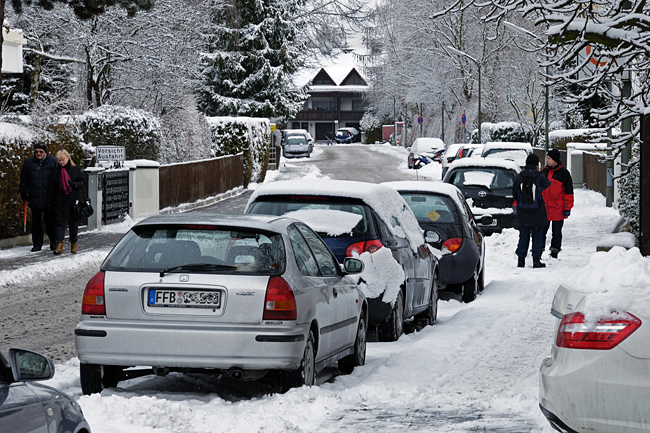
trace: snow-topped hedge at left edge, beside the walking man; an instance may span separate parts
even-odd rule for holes
[[[0,239],[17,236],[23,228],[23,203],[18,194],[20,171],[33,155],[34,133],[25,126],[0,123]]]

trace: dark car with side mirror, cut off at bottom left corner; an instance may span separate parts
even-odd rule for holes
[[[9,349],[9,362],[0,354],[0,432],[90,433],[81,408],[67,395],[43,384],[54,364],[45,355]]]

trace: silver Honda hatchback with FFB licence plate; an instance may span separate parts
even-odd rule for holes
[[[160,215],[134,225],[83,295],[84,394],[170,371],[222,371],[283,388],[365,363],[367,302],[305,224],[260,215]],[[150,368],[134,369],[145,366]]]

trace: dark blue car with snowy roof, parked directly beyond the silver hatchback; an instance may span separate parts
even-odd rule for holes
[[[371,203],[377,202],[378,198],[382,203],[375,208]],[[258,187],[246,207],[246,213],[266,215],[304,210],[322,211],[323,215],[329,212],[334,218],[329,223],[333,225],[345,224],[347,218],[342,218],[345,214],[341,212],[357,216],[354,220],[356,225],[335,235],[312,225],[339,262],[343,263],[345,257],[364,252],[372,254],[386,247],[404,270],[404,282],[399,291],[395,290],[395,299],[369,296],[364,292],[368,299],[368,323],[378,327],[380,340],[397,340],[404,330],[404,320],[411,317],[421,317],[428,324],[435,322],[438,313],[438,263],[424,241],[413,212],[395,190],[351,181],[272,182]],[[336,215],[340,219],[337,220]],[[291,216],[298,218],[297,214]],[[310,224],[310,221],[304,221]],[[419,239],[415,239],[417,236]],[[416,248],[414,244],[417,244]]]

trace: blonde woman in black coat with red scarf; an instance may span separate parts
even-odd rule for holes
[[[72,162],[70,154],[65,149],[56,153],[56,160],[58,165],[52,173],[53,194],[50,201],[56,224],[57,245],[54,254],[63,252],[66,226],[70,231],[70,252],[76,254],[79,221],[72,212],[72,206],[85,187],[83,172]]]

